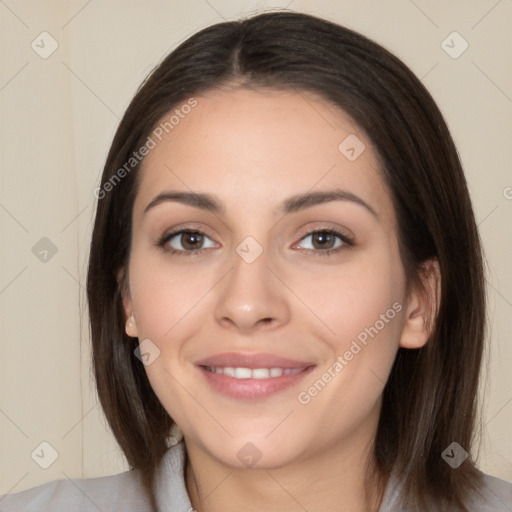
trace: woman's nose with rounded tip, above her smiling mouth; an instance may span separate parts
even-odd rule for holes
[[[252,263],[235,256],[215,304],[215,319],[222,327],[250,334],[288,323],[286,288],[267,265],[265,252]]]

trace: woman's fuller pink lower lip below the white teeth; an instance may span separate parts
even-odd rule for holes
[[[235,379],[224,374],[212,373],[204,366],[199,369],[210,386],[223,395],[239,400],[256,400],[267,398],[292,386],[296,386],[314,366],[304,368],[300,373],[269,377],[268,379]]]

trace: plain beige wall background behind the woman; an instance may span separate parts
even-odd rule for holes
[[[488,260],[480,467],[512,481],[511,0],[2,0],[0,493],[126,468],[90,374],[84,283],[93,190],[124,109],[169,50],[222,19],[286,6],[383,44],[446,116]],[[39,52],[50,48],[43,31],[59,45],[47,59],[31,47],[35,40]],[[441,46],[453,31],[469,44],[456,59]],[[462,40],[454,41],[460,49]],[[43,237],[57,248],[46,262],[32,251]],[[36,463],[50,461],[44,441],[58,453],[48,469]]]

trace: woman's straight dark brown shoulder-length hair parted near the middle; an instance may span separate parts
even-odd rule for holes
[[[400,348],[386,383],[373,460],[384,480],[397,471],[408,510],[467,510],[481,477],[472,446],[485,303],[481,245],[456,148],[431,95],[398,58],[352,30],[288,11],[219,23],[180,44],[140,86],[108,153],[87,295],[99,398],[129,464],[151,489],[173,421],[134,355],[138,340],[124,331],[127,283],[118,276],[129,261],[141,164],[105,185],[164,115],[229,85],[312,92],[352,116],[373,143],[408,283],[418,282],[430,258],[441,271],[429,341],[418,350]],[[441,458],[453,441],[471,453],[456,470]]]

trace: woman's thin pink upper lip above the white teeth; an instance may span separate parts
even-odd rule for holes
[[[287,357],[281,357],[267,352],[255,354],[240,352],[224,352],[215,354],[196,362],[198,366],[223,368],[306,368],[314,363],[308,361],[297,361]]]

